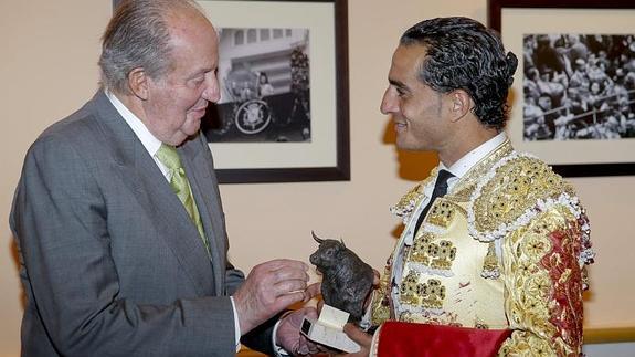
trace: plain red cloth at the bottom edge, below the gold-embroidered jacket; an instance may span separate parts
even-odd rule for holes
[[[387,322],[379,333],[379,357],[490,357],[511,330]]]

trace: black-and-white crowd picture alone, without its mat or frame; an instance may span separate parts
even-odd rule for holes
[[[523,36],[523,139],[635,137],[635,34]]]

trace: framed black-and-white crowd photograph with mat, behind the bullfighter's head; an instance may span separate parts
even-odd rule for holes
[[[518,57],[508,135],[568,177],[635,175],[635,2],[489,0]]]

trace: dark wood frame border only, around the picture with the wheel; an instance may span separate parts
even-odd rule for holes
[[[271,1],[271,0],[252,0]],[[348,85],[348,0],[277,0],[283,2],[331,2],[335,17],[335,103],[336,165],[301,168],[216,169],[221,183],[300,182],[350,180],[349,85]],[[113,0],[115,8],[120,0]]]

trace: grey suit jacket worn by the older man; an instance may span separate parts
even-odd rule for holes
[[[99,91],[29,149],[10,222],[23,356],[233,356],[244,280],[202,135],[179,148],[212,249]],[[271,330],[269,337],[271,337]]]

